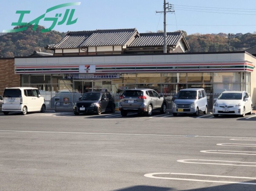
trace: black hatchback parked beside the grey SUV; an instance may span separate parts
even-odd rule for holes
[[[86,92],[78,102],[74,104],[74,114],[115,112],[116,105],[109,92]]]

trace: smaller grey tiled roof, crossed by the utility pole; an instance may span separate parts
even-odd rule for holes
[[[182,32],[166,33],[166,45],[177,45],[182,36]],[[139,33],[128,47],[163,46],[163,41],[163,33]]]

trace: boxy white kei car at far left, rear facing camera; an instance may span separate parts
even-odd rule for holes
[[[44,113],[46,106],[37,88],[14,87],[5,88],[3,94],[2,111],[5,115],[10,111],[20,111],[23,115],[31,111]]]

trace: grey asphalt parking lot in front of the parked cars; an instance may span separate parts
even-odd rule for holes
[[[0,113],[0,190],[256,190],[256,112]]]

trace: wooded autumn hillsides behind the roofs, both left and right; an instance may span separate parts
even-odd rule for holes
[[[17,27],[15,27],[17,28]],[[50,31],[41,33],[42,26],[38,26],[37,31],[33,31],[33,26],[29,26],[28,30],[17,33],[6,33],[0,36],[0,51],[2,57],[29,56],[39,48],[42,52],[52,53],[45,50],[44,47],[49,44],[59,42],[66,33],[58,31]],[[151,31],[148,31],[151,32]],[[157,32],[163,32],[159,30]],[[219,34],[191,34],[187,35],[182,31],[187,39],[190,52],[225,52],[229,51],[228,35]],[[153,32],[151,32],[153,33]],[[256,45],[256,34],[231,35],[230,51],[241,51]]]

